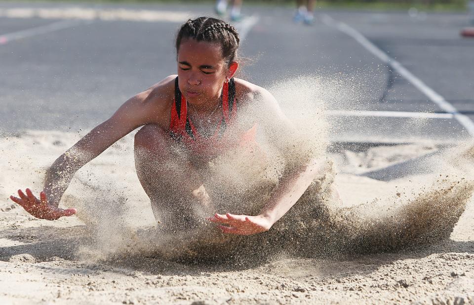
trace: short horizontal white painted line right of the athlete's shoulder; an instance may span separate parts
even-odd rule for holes
[[[410,111],[368,111],[368,110],[327,110],[329,116],[341,117],[386,117],[386,118],[413,118],[413,119],[453,119],[451,113],[410,112]]]

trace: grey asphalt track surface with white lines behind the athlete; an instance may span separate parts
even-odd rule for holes
[[[77,19],[78,8],[95,15]],[[211,12],[164,4],[0,3],[0,132],[94,127],[133,94],[175,74],[178,26],[186,16]],[[329,105],[331,120],[342,126],[333,140],[474,135],[474,39],[459,35],[467,15],[318,11],[316,23],[303,26],[291,22],[288,8],[244,7],[244,13],[248,18],[236,25],[244,33],[241,51],[253,63],[243,66],[242,78],[267,87],[317,75],[356,92]]]

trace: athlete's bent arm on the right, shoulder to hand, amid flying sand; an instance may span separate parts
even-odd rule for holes
[[[267,90],[258,92],[260,109],[265,109],[265,114],[257,115],[258,118],[271,118],[269,122],[259,122],[265,130],[267,138],[281,152],[287,164],[278,188],[265,204],[257,216],[215,214],[210,221],[219,223],[219,228],[224,233],[250,235],[268,231],[272,225],[298,201],[308,186],[313,182],[316,174],[320,172],[321,164],[307,155],[300,155],[294,143],[298,139],[298,131],[281,111],[275,97]],[[309,155],[309,154],[308,154]],[[291,156],[291,160],[289,158]]]

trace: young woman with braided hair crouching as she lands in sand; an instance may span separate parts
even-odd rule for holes
[[[265,129],[269,141],[283,154],[288,153],[288,147],[281,138],[296,133],[267,90],[234,78],[238,44],[237,30],[222,20],[188,20],[176,39],[178,75],[130,98],[109,120],[60,156],[46,173],[40,199],[26,189],[26,194],[18,190],[19,198],[11,196],[11,200],[37,218],[54,220],[76,214],[75,209],[58,208],[73,175],[120,138],[143,126],[135,135],[135,166],[155,216],[164,226],[181,222],[185,216],[176,212],[174,204],[183,198],[212,207],[200,177],[210,160],[234,147],[258,150],[257,126]],[[245,115],[241,109],[252,103],[258,103],[255,108],[259,111],[239,120],[247,123],[237,124],[237,117]],[[259,124],[261,119],[267,123]],[[187,154],[177,154],[177,147],[184,147]],[[178,163],[178,167],[170,168],[169,163]],[[304,162],[291,173],[283,173],[258,215],[224,213],[208,215],[208,220],[224,233],[267,231],[301,197],[316,172],[315,162]],[[176,196],[162,196],[159,190],[163,188]],[[178,215],[166,217],[173,213]]]

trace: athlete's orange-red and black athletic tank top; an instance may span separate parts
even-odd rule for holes
[[[169,131],[175,139],[184,142],[186,147],[197,155],[217,155],[230,148],[255,142],[256,126],[240,136],[229,134],[229,127],[237,119],[236,84],[234,79],[224,83],[221,95],[222,116],[218,120],[216,130],[209,137],[205,137],[196,130],[188,116],[188,102],[181,94],[178,78],[174,82],[174,103],[171,106],[171,121]]]

